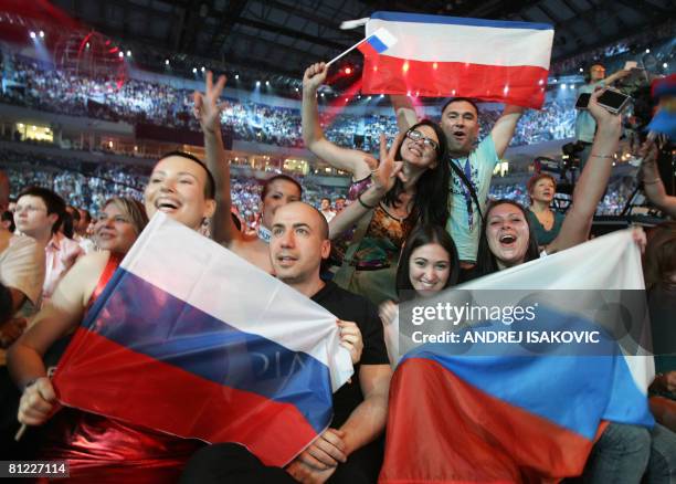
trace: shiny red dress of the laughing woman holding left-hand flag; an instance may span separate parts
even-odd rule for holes
[[[110,255],[92,294],[89,307],[103,292],[120,260],[120,255]],[[197,440],[64,408],[50,422],[40,459],[67,461],[71,476],[67,482],[173,483],[178,481],[188,459],[201,445],[203,443]]]

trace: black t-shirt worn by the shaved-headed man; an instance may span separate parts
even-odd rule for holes
[[[311,299],[342,320],[357,323],[363,339],[361,360],[355,365],[355,376],[351,383],[345,383],[334,393],[332,428],[339,428],[350,417],[359,403],[363,401],[359,386],[359,368],[361,365],[389,365],[388,351],[382,336],[382,323],[378,309],[366,297],[352,294],[327,282]]]

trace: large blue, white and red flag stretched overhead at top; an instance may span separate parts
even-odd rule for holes
[[[379,55],[365,52],[367,94],[464,96],[534,108],[545,102],[552,25],[374,12],[367,35],[383,28],[397,43]]]

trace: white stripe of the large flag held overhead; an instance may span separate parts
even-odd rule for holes
[[[549,70],[553,30],[395,22],[371,19],[367,36],[385,28],[397,39],[387,55],[423,62],[532,65]]]

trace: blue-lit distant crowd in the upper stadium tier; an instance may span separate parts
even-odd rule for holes
[[[0,103],[40,111],[88,116],[130,124],[149,123],[173,128],[199,130],[192,116],[192,92],[159,83],[127,78],[124,82],[92,78],[82,73],[46,69],[38,61],[2,52]],[[226,98],[222,123],[233,129],[239,140],[302,147],[300,111],[253,101]],[[496,109],[480,114],[482,134],[489,131],[499,117]],[[528,145],[573,136],[574,99],[548,101],[542,111],[526,113],[513,145]],[[340,146],[374,151],[380,133],[397,135],[391,115],[365,116],[325,114],[327,138]]]

